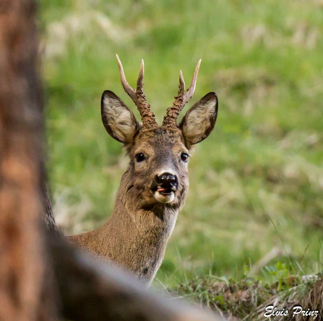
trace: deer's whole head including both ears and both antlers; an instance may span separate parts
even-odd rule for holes
[[[163,124],[158,126],[142,92],[143,62],[136,91],[126,82],[119,58],[118,63],[121,83],[137,105],[142,124],[117,95],[106,90],[101,99],[103,125],[114,139],[127,148],[130,156],[127,177],[129,187],[137,190],[139,199],[136,202],[147,208],[160,203],[178,208],[183,205],[188,191],[187,166],[192,146],[205,139],[214,127],[217,96],[214,92],[205,95],[177,124],[180,110],[193,95],[198,64],[192,84],[185,94],[180,74],[178,96],[173,106],[167,109]]]

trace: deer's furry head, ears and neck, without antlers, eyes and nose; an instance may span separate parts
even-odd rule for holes
[[[201,108],[206,100],[213,102],[214,112],[206,113],[207,119],[212,117],[212,121],[201,122]],[[201,130],[206,134],[201,135],[199,131],[200,138],[194,144],[209,135],[216,119],[216,95],[209,93],[200,102],[189,113],[194,114],[194,109],[199,108],[198,120],[204,124]],[[124,115],[122,109],[114,112],[120,106],[124,107]],[[94,231],[68,236],[68,239],[150,283],[161,265],[168,238],[188,192],[188,162],[181,159],[181,154],[190,153],[192,138],[186,139],[183,133],[195,129],[193,126],[190,130],[191,122],[188,125],[183,122],[177,128],[142,128],[130,109],[110,91],[102,95],[101,114],[108,133],[127,148],[130,164],[122,175],[115,207],[107,223]],[[119,126],[117,118],[111,117],[128,118]],[[145,155],[144,161],[136,161],[138,153]],[[168,170],[177,176],[178,189],[171,202],[161,203],[154,197],[152,184],[157,174]]]

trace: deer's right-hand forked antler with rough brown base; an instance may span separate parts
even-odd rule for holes
[[[195,84],[197,79],[197,74],[199,72],[199,68],[201,65],[201,59],[198,61],[194,75],[191,81],[191,85],[187,89],[186,93],[185,91],[185,83],[183,79],[182,70],[180,70],[180,84],[178,86],[178,94],[175,96],[175,101],[173,102],[172,107],[167,108],[166,116],[164,116],[164,120],[162,122],[163,127],[176,127],[177,126],[177,117],[180,113],[180,111],[184,108],[186,103],[192,98],[195,90]]]

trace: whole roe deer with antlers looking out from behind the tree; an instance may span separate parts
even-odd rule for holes
[[[102,259],[125,267],[149,284],[161,265],[178,211],[185,202],[190,152],[194,144],[212,131],[218,99],[214,92],[206,94],[177,124],[177,116],[194,93],[199,60],[186,92],[180,71],[178,95],[159,126],[142,91],[143,60],[136,90],[126,81],[118,55],[117,60],[121,84],[137,106],[142,124],[117,95],[109,90],[103,92],[103,125],[110,136],[124,144],[130,163],[122,175],[107,223],[68,238]]]

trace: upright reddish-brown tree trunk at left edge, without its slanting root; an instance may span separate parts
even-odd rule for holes
[[[43,126],[35,9],[29,0],[0,1],[0,320],[48,320],[51,305],[38,229]]]

